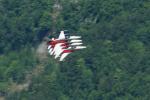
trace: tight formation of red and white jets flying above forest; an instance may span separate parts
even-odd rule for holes
[[[61,31],[57,39],[52,38],[48,41],[48,52],[59,61],[64,59],[72,52],[86,48],[82,46],[81,36],[69,36],[67,31]]]

